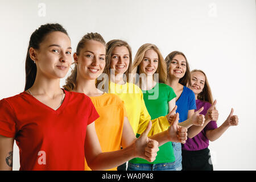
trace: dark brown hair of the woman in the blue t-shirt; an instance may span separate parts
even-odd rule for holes
[[[190,68],[189,68],[187,57],[184,55],[183,52],[172,51],[171,53],[168,54],[168,56],[166,56],[166,59],[164,59],[164,61],[166,61],[166,64],[167,64],[167,77],[170,78],[169,77],[169,74],[170,74],[169,70],[170,70],[170,66],[171,66],[171,61],[172,61],[172,59],[174,59],[174,57],[176,55],[181,55],[186,60],[186,72],[185,72],[185,75],[182,78],[180,78],[179,83],[181,85],[184,85],[184,86],[191,86]]]

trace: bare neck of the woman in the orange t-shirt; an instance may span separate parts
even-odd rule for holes
[[[100,96],[102,94],[102,92],[96,88],[95,80],[87,80],[77,75],[76,82],[77,85],[76,89],[73,90],[74,92],[84,93],[89,97]]]

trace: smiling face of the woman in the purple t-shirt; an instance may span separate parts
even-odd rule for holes
[[[205,85],[205,76],[201,72],[192,72],[191,73],[191,84],[190,89],[195,93],[199,94],[203,91]]]

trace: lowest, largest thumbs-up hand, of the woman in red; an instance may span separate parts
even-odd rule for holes
[[[153,162],[159,151],[158,142],[147,137],[152,126],[152,122],[148,123],[146,130],[135,140],[135,156]]]

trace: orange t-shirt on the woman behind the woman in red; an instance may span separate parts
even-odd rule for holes
[[[121,148],[123,118],[127,117],[123,101],[115,94],[104,93],[102,96],[90,97],[97,113],[95,129],[102,152],[117,151]],[[85,171],[91,171],[85,160]],[[117,167],[108,169],[117,171]]]

